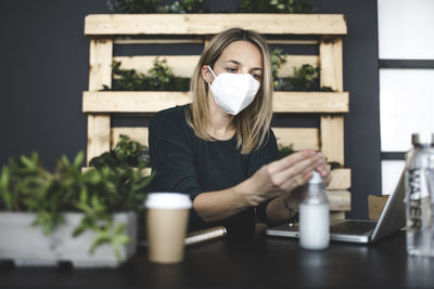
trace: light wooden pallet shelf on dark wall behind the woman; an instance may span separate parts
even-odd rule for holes
[[[82,93],[82,111],[88,114],[87,160],[107,152],[120,133],[148,144],[148,128],[112,128],[113,114],[154,114],[190,102],[188,92],[101,91],[112,87],[112,63],[123,69],[145,74],[158,55],[113,55],[114,45],[206,44],[227,28],[242,27],[266,35],[269,43],[317,45],[318,55],[286,55],[279,77],[293,76],[303,64],[320,66],[320,87],[334,92],[275,92],[275,113],[316,114],[318,128],[273,128],[278,143],[298,149],[320,149],[329,161],[344,166],[344,114],[349,111],[349,93],[343,91],[343,37],[347,32],[342,14],[100,14],[85,19],[90,38],[89,89]],[[304,36],[299,38],[298,36]],[[174,74],[191,77],[199,55],[164,55]],[[146,171],[150,173],[150,171]],[[350,210],[350,169],[332,171],[329,185],[333,218]]]

